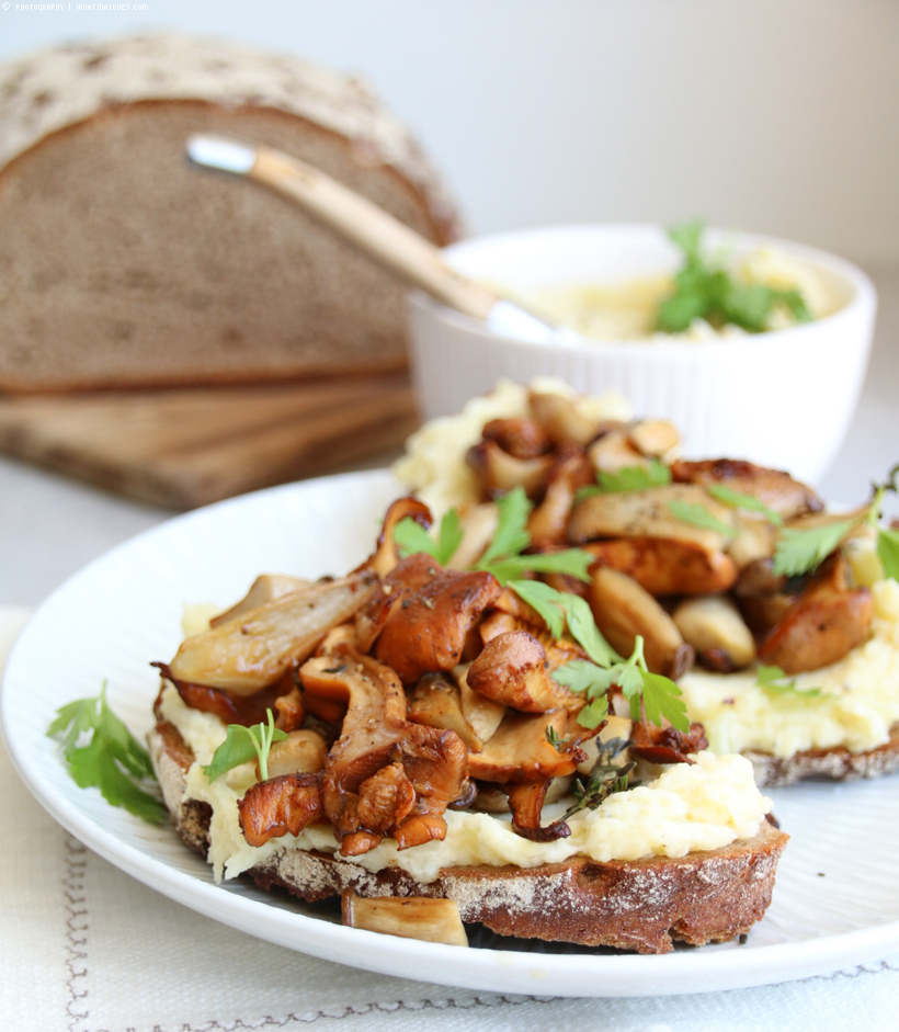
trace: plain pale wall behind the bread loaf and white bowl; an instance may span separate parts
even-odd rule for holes
[[[702,215],[899,263],[896,0],[146,5],[10,0],[0,59],[138,29],[231,36],[364,76],[473,231]]]

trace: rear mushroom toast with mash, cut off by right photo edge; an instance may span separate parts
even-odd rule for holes
[[[501,384],[425,424],[397,475],[435,513],[496,521],[521,487],[530,551],[590,552],[589,581],[547,582],[590,602],[623,656],[676,680],[712,750],[739,752],[760,784],[875,776],[899,766],[899,534],[884,491],[828,513],[788,474],[686,461],[678,431],[619,400],[558,383]]]

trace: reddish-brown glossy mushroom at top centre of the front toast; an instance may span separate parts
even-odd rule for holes
[[[375,656],[406,684],[422,673],[452,670],[468,632],[500,593],[492,574],[445,570],[423,554],[400,560],[387,583],[399,590],[399,600],[375,643]]]

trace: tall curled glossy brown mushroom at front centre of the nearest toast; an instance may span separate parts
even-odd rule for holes
[[[322,778],[325,813],[341,854],[366,852],[387,832],[400,849],[444,838],[443,813],[464,793],[468,778],[468,750],[459,737],[407,721],[399,678],[368,656],[343,649],[318,657],[303,666],[300,677],[307,692],[332,698],[342,692],[349,699]],[[402,778],[396,770],[379,773],[396,763]]]

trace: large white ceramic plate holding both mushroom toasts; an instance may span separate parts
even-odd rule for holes
[[[239,598],[262,571],[343,572],[371,551],[398,494],[384,472],[248,495],[172,520],[88,566],[37,611],[7,668],[10,753],[53,816],[106,860],[208,917],[294,950],[371,971],[540,996],[655,996],[763,985],[834,971],[899,949],[899,779],[776,793],[793,840],[774,901],[744,945],[665,956],[543,951],[485,940],[460,950],[343,928],[321,909],[252,886],[217,886],[168,828],[106,805],[69,778],[45,735],[61,704],[109,680],[113,708],[141,735],[158,676],[180,640],[185,602]]]

